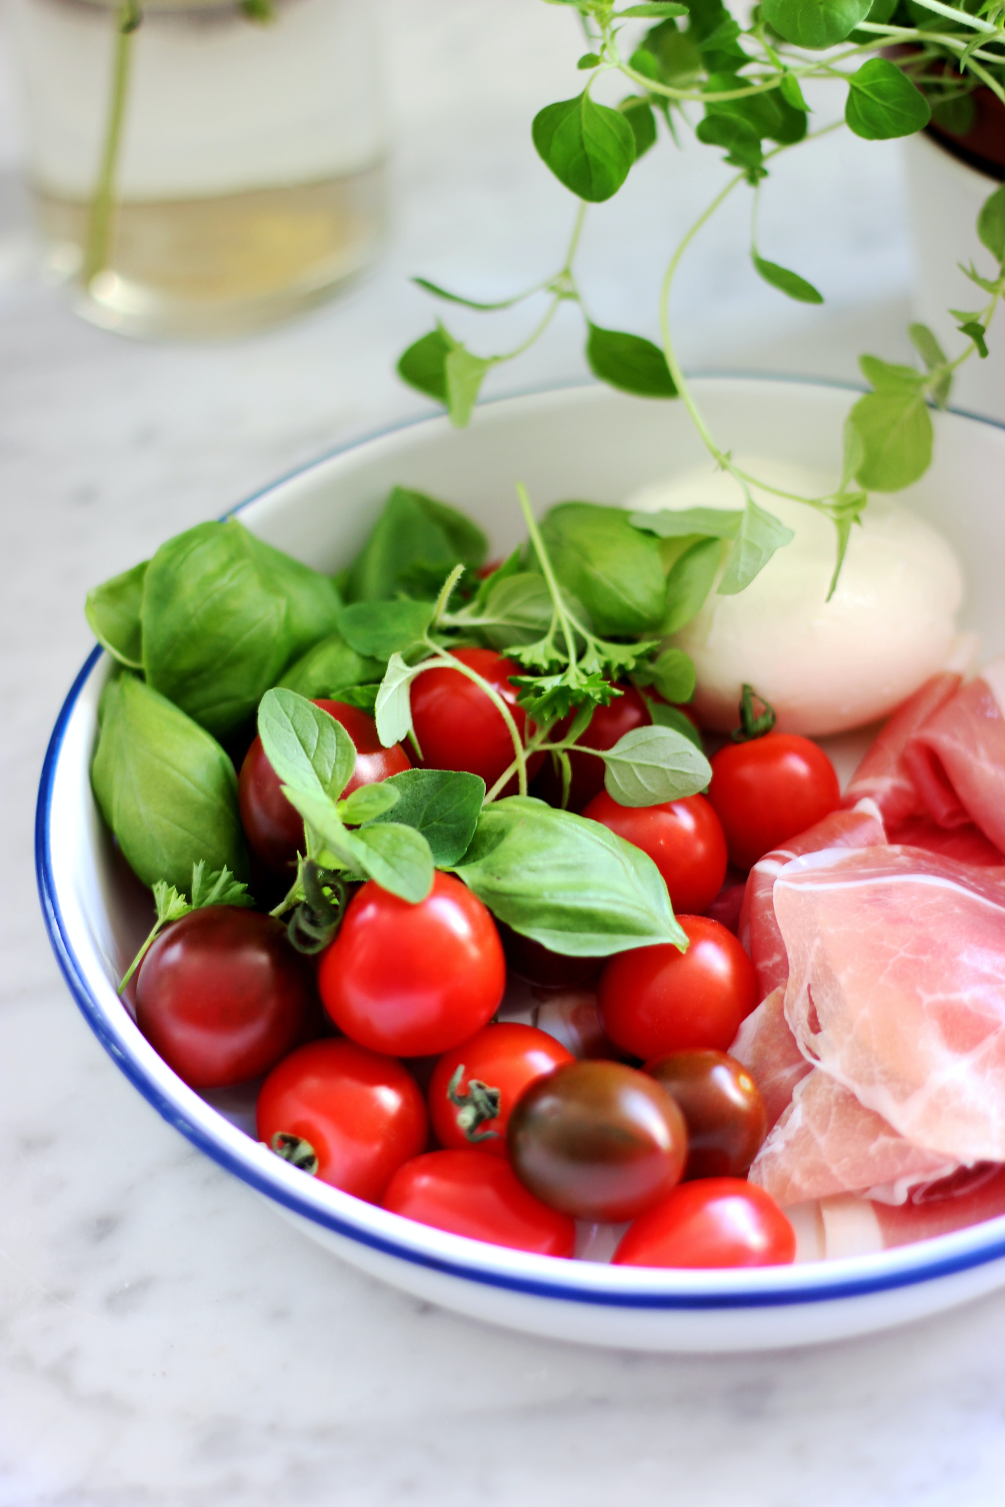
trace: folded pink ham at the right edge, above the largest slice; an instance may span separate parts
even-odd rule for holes
[[[1005,654],[927,717],[903,763],[918,811],[943,827],[972,821],[1005,850]]]

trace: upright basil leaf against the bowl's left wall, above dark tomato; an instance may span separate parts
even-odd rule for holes
[[[185,891],[200,859],[247,876],[234,764],[205,728],[128,672],[101,696],[90,782],[145,885]]]

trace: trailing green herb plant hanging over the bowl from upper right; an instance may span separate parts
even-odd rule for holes
[[[753,190],[753,270],[790,298],[821,303],[823,295],[811,282],[765,258],[758,246],[756,203],[768,164],[799,142],[818,139],[841,124],[866,140],[889,140],[922,130],[934,110],[940,124],[964,131],[972,116],[973,89],[987,87],[1005,102],[1005,5],[985,0],[975,15],[942,0],[916,0],[916,5],[909,0],[764,0],[750,24],[741,26],[722,0],[687,0],[684,5],[652,0],[619,11],[612,0],[548,3],[579,14],[589,51],[577,66],[591,75],[580,95],[545,105],[532,125],[538,154],[580,200],[561,271],[497,303],[478,303],[428,279],[416,279],[432,297],[482,312],[512,307],[544,294],[550,298],[545,316],[514,351],[493,357],[469,351],[437,321],[431,335],[402,354],[398,371],[413,387],[443,402],[454,423],[466,425],[485,374],[521,354],[559,303],[577,303],[586,324],[586,360],[600,380],[637,396],[683,399],[710,455],[738,487],[744,543],[756,550],[782,529],[777,518],[753,502],[753,487],[803,502],[832,520],[836,530],[833,594],[851,527],[860,520],[868,493],[900,491],[927,470],[933,448],[930,407],[945,407],[954,374],[964,362],[987,356],[988,327],[1005,294],[1005,187],[988,197],[978,220],[981,243],[996,264],[993,273],[963,268],[985,294],[985,301],[975,310],[951,310],[964,336],[963,347],[949,357],[928,327],[915,324],[910,338],[924,369],[862,357],[862,371],[872,390],[848,414],[842,476],[824,496],[806,497],[768,485],[738,467],[731,452],[719,445],[677,356],[671,327],[674,277],[695,237],[719,206],[747,184]],[[630,36],[625,24],[640,18],[657,24],[640,45],[625,50],[624,41]],[[681,21],[687,26],[681,27]],[[897,63],[866,56],[890,44],[898,47]],[[621,75],[636,90],[613,109],[592,98],[595,81],[607,74]],[[811,133],[803,84],[814,80],[842,80],[848,93],[844,122]],[[687,115],[689,107],[704,112],[696,124]],[[699,142],[725,149],[725,161],[737,167],[671,256],[658,297],[658,345],[639,335],[595,326],[586,313],[574,270],[586,206],[618,193],[631,166],[655,143],[657,116],[675,142],[678,130],[693,125]],[[765,151],[765,142],[774,145]],[[740,571],[734,579],[726,573],[720,591],[743,589]]]

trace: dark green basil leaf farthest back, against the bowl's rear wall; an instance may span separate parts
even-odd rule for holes
[[[347,601],[386,601],[410,591],[410,576],[435,577],[435,597],[454,565],[470,570],[485,561],[488,540],[470,518],[422,491],[395,487],[362,553],[350,567]]]

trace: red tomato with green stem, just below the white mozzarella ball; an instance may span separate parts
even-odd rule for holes
[[[753,868],[841,805],[824,750],[796,732],[728,743],[711,761],[708,799],[726,833],[729,862]]]

